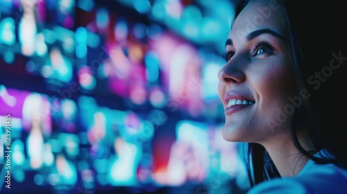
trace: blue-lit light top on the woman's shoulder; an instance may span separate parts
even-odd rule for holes
[[[315,157],[328,156],[324,150]],[[296,177],[275,178],[257,184],[248,194],[255,193],[295,193],[295,194],[347,194],[347,170],[335,164],[316,164],[307,161]]]

